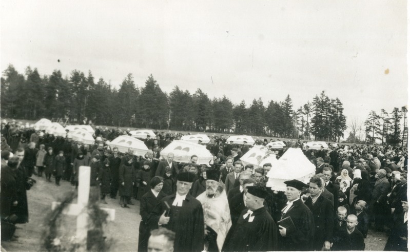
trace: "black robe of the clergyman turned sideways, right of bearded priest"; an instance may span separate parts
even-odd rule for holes
[[[278,248],[278,227],[266,211],[261,207],[246,218],[248,209],[242,211],[236,225],[232,225],[222,251],[273,251]],[[249,222],[250,217],[253,220]]]

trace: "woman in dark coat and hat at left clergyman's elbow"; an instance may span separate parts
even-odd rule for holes
[[[163,187],[162,177],[155,176],[149,182],[149,190],[146,194],[141,197],[140,201],[140,229],[138,236],[138,252],[146,252],[148,250],[148,238],[150,236],[150,231],[157,228],[157,223],[152,223],[150,217],[152,209],[155,205],[160,203],[161,199],[167,195],[161,191]]]

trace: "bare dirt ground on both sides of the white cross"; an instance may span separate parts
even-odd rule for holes
[[[7,251],[41,251],[42,233],[45,228],[45,218],[51,211],[51,202],[58,201],[66,192],[75,190],[69,182],[62,181],[61,186],[54,182],[46,182],[45,178],[33,176],[37,183],[27,191],[29,204],[29,223],[17,225],[15,241],[2,242]],[[115,209],[115,221],[109,222],[104,228],[107,239],[112,238],[115,244],[111,251],[136,251],[138,248],[138,228],[141,221],[139,201],[133,200],[131,208],[122,208],[118,199],[110,199],[102,207]],[[74,201],[75,203],[75,201]],[[75,218],[67,217],[71,229],[75,232]],[[75,234],[75,233],[73,233]]]

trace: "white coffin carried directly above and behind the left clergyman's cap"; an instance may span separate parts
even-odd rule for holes
[[[192,155],[198,156],[198,164],[208,164],[212,160],[212,154],[204,145],[192,143],[185,140],[173,140],[161,151],[161,156],[165,159],[168,153],[174,154],[174,161],[190,162]]]

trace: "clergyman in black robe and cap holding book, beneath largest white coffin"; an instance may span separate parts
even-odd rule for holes
[[[303,187],[306,184],[296,179],[285,181],[284,183],[286,184],[285,194],[288,202],[282,209],[281,220],[290,217],[297,228],[286,228],[279,224],[279,250],[312,250],[313,215],[300,199]]]

